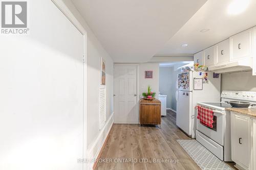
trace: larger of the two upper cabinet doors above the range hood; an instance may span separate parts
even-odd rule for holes
[[[230,37],[230,61],[251,57],[252,29]]]

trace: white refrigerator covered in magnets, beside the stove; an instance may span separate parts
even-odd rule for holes
[[[194,90],[194,79],[195,89]],[[202,88],[200,82],[202,80]],[[177,118],[176,125],[192,138],[196,137],[197,102],[220,101],[221,75],[214,78],[213,72],[188,71],[177,75]]]

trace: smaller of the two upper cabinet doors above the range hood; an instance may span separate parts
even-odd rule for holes
[[[216,65],[229,62],[229,39],[216,45]]]

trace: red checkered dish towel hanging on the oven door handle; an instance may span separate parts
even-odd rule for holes
[[[213,128],[214,123],[214,111],[197,106],[197,118],[200,120],[200,123],[209,128]]]

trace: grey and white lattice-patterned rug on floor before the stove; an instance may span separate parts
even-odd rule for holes
[[[231,169],[196,140],[177,140],[187,154],[203,169]]]

